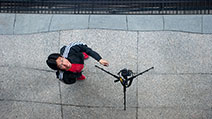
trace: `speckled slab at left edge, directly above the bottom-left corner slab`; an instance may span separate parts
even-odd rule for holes
[[[60,103],[59,84],[53,72],[0,67],[0,99]]]

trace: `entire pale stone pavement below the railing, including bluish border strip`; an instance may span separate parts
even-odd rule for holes
[[[1,119],[212,118],[210,15],[0,16]],[[113,73],[155,67],[127,89],[127,111],[121,84],[96,69],[94,59],[85,61],[87,79],[73,85],[47,67],[50,53],[79,40]]]

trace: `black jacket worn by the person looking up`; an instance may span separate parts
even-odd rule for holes
[[[61,55],[63,55],[65,48],[66,48],[66,46],[63,46],[60,49]],[[89,56],[91,56],[92,58],[94,58],[97,61],[102,59],[101,56],[97,52],[93,51],[87,45],[78,44],[78,45],[72,46],[70,48],[68,57],[67,57],[68,61],[72,64],[84,64],[84,55],[82,54],[82,52],[85,52],[86,54],[88,54]],[[57,71],[56,75],[58,78],[58,75],[59,75],[58,71]],[[76,78],[79,78],[81,75],[82,75],[82,73],[64,71],[63,79],[61,79],[61,80],[66,84],[73,84],[76,82]]]

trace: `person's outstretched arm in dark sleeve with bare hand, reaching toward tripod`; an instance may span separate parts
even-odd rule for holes
[[[85,52],[86,54],[88,54],[89,56],[91,56],[92,58],[97,60],[100,64],[102,64],[104,66],[109,65],[109,63],[106,60],[102,59],[102,57],[96,51],[93,51],[87,45],[79,45],[79,47],[82,52]]]

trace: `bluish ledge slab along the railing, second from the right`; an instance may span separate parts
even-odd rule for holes
[[[164,30],[202,33],[202,16],[164,15]]]

